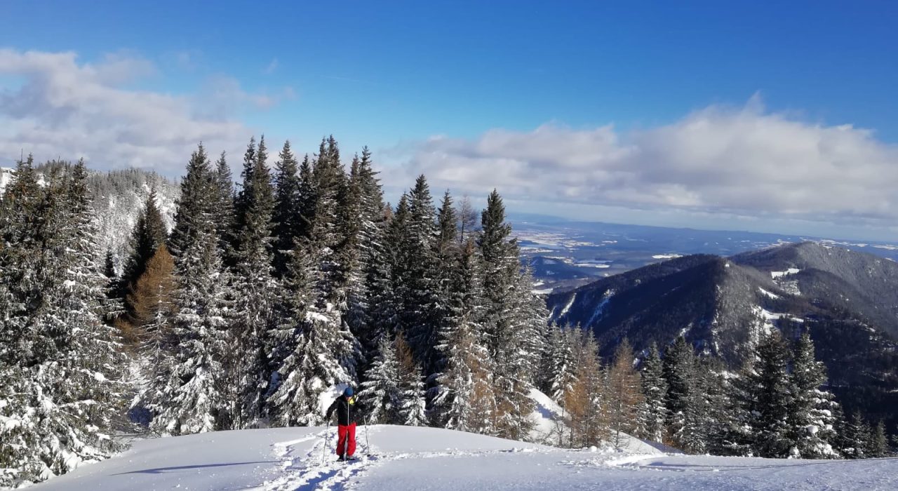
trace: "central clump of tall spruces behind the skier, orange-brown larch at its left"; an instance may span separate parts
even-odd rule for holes
[[[360,383],[373,422],[523,437],[546,315],[498,194],[475,232],[423,176],[386,206],[371,154],[346,169],[333,137],[267,160],[251,141],[234,193],[200,146],[171,236],[152,197],[136,226],[120,324],[152,360],[151,427],[319,425],[321,394]]]

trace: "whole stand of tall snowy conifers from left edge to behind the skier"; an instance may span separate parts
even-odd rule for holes
[[[478,224],[423,176],[385,204],[371,154],[344,166],[333,137],[302,159],[287,142],[273,169],[251,140],[238,185],[225,157],[192,154],[171,233],[150,195],[120,276],[84,164],[39,185],[18,162],[0,212],[4,484],[109,452],[126,399],[159,434],[318,425],[348,383],[372,423],[527,434],[546,312],[495,191]]]

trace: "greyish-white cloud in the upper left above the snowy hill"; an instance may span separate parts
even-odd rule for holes
[[[198,142],[227,150],[232,164],[254,132],[234,118],[293,97],[250,93],[231,78],[211,79],[202,95],[132,88],[157,77],[151,62],[128,53],[81,63],[73,52],[0,49],[0,160],[20,150],[43,161],[84,157],[99,169],[141,167],[180,175]]]

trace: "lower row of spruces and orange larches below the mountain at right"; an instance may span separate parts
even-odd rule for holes
[[[684,452],[802,459],[861,459],[891,453],[885,425],[847,419],[824,390],[825,367],[804,333],[794,342],[773,329],[750,363],[730,373],[695,355],[684,338],[637,357],[626,339],[603,367],[591,332],[551,326],[540,387],[564,408],[553,443],[612,442],[621,433]]]

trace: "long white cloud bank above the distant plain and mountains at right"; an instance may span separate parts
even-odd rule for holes
[[[765,111],[756,97],[629,132],[547,124],[433,137],[400,172],[406,181],[425,173],[436,189],[497,188],[543,203],[879,226],[898,217],[898,146],[866,129]]]

